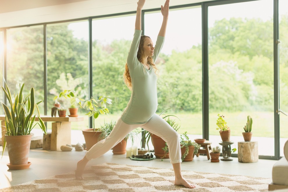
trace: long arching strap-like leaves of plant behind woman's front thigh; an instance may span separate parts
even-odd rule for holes
[[[171,119],[170,117],[175,117],[179,120],[179,118],[175,115],[165,115],[164,112],[169,110],[169,109],[172,109],[172,108],[175,108],[175,107],[170,107],[168,109],[165,109],[163,110],[159,116],[163,115],[162,118],[175,130],[175,131],[178,131],[178,129],[180,128],[180,125],[177,123],[177,121],[175,119]],[[151,139],[151,133],[149,131],[146,131],[145,129],[143,129],[141,131],[142,133],[142,138],[141,138],[141,148],[145,148],[145,146],[147,145],[147,148],[148,150],[150,151],[149,149],[149,141]]]

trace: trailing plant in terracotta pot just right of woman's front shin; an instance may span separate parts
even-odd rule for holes
[[[192,142],[189,139],[187,131],[185,131],[184,134],[180,135],[180,145],[181,145],[182,161],[193,161],[194,155],[198,153],[198,150],[201,147],[201,145]]]

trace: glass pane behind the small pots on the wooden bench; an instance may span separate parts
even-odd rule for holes
[[[74,90],[79,98],[88,98],[88,21],[47,25],[47,108],[54,106],[54,97],[63,90]],[[69,99],[56,100],[70,115]],[[72,129],[86,129],[88,117],[79,109],[83,122],[71,123]],[[50,125],[48,125],[50,126]]]

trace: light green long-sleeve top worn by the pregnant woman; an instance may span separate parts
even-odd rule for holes
[[[146,69],[137,59],[137,52],[141,38],[141,30],[135,30],[127,57],[127,65],[132,82],[131,98],[121,115],[127,124],[142,124],[150,120],[155,114],[158,105],[157,76],[152,66]],[[164,43],[164,37],[158,36],[154,49],[155,62]]]

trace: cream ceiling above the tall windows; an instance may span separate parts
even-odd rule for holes
[[[135,11],[138,0],[1,0],[0,28]],[[170,0],[170,6],[208,0]],[[165,0],[146,0],[143,9]]]

